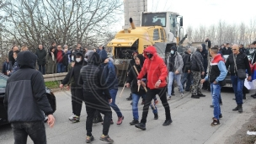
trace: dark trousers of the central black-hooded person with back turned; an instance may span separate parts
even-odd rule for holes
[[[93,131],[93,117],[95,113],[95,108],[90,107],[88,105],[86,107],[86,112],[87,112],[87,119],[86,119],[86,131],[87,131],[87,136],[92,136],[92,131]],[[104,115],[104,123],[103,123],[103,134],[104,136],[109,135],[109,126],[110,126],[110,121],[112,117],[112,112],[109,106],[109,109],[98,109],[100,113]]]

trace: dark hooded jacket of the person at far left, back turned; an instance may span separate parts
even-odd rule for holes
[[[35,70],[36,59],[31,51],[18,54],[20,69],[8,78],[5,88],[4,106],[8,109],[9,122],[45,120],[43,112],[53,113],[45,94],[44,77]]]

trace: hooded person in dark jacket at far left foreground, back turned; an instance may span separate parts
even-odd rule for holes
[[[29,135],[35,144],[46,144],[44,113],[50,127],[55,122],[45,95],[44,77],[35,70],[36,59],[30,51],[20,52],[17,57],[20,69],[8,78],[5,88],[4,106],[8,109],[14,143],[26,143]]]

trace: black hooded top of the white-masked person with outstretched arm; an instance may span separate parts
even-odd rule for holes
[[[76,56],[81,56],[81,61],[76,61]],[[71,68],[71,70],[67,73],[66,77],[61,82],[62,84],[67,84],[71,78],[74,78],[74,83],[71,84],[72,88],[83,88],[83,80],[80,76],[80,70],[83,67],[83,54],[82,53],[76,53],[76,56],[74,56],[75,59],[75,66]]]

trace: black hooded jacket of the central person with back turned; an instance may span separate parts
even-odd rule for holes
[[[102,77],[102,69],[99,67],[99,54],[90,51],[88,53],[88,64],[82,67],[80,73],[83,78],[83,97],[85,104],[93,109],[109,109],[107,99],[111,99],[109,89],[100,83],[105,77]],[[104,80],[103,80],[104,81]]]

